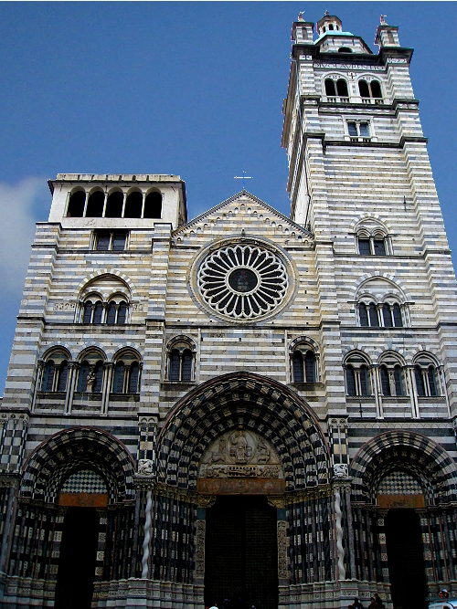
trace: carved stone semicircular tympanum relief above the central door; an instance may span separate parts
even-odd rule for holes
[[[242,427],[219,436],[205,457],[201,478],[283,478],[281,462],[271,444]]]

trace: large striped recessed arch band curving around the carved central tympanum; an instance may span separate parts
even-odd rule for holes
[[[208,448],[237,429],[272,446],[286,490],[329,481],[329,450],[311,409],[281,383],[244,372],[208,381],[175,405],[158,437],[159,481],[195,490]]]

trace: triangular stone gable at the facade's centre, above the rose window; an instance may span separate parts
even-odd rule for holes
[[[219,230],[225,236],[261,236],[262,233],[268,233],[265,236],[271,237],[273,233],[276,237],[292,237],[301,243],[312,243],[314,239],[310,231],[246,190],[234,194],[204,214],[197,215],[186,225],[179,226],[173,236],[181,241],[186,240],[186,237],[205,234],[217,236]]]

